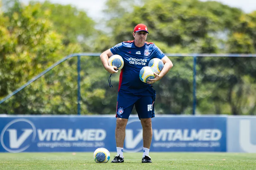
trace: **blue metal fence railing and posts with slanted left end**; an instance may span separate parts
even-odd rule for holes
[[[3,98],[0,101],[0,104],[15,95],[17,92],[21,91],[25,87],[27,87],[29,84],[33,83],[33,81],[40,78],[42,75],[53,69],[54,67],[58,66],[60,63],[70,59],[71,57],[77,57],[77,114],[80,115],[80,103],[81,103],[81,95],[80,95],[80,57],[81,56],[100,56],[101,53],[75,53],[68,55],[64,57],[62,60],[59,60],[58,62],[54,63],[52,66],[48,67],[45,71],[41,72],[34,78],[28,81],[28,83],[22,85],[17,90],[13,91],[9,95],[7,95],[5,98]],[[195,115],[196,111],[196,62],[197,57],[256,57],[256,54],[181,54],[181,53],[174,53],[174,54],[165,54],[168,57],[193,57],[193,111],[192,114]]]

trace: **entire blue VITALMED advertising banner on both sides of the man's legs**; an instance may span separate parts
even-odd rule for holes
[[[116,151],[116,118],[110,116],[0,117],[0,152]],[[160,116],[152,119],[150,151],[226,151],[226,117]],[[142,151],[142,127],[131,116],[124,152]]]

